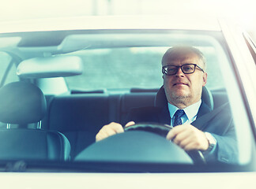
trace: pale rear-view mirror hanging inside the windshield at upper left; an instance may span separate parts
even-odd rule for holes
[[[77,76],[82,71],[82,59],[77,56],[35,57],[17,66],[17,76],[24,78]]]

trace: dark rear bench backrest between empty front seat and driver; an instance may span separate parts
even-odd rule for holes
[[[79,94],[48,96],[42,128],[62,132],[70,140],[71,159],[95,142],[96,133],[112,121],[125,124],[131,108],[153,106],[156,93],[125,95]]]

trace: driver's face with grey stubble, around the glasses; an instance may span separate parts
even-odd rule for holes
[[[177,54],[177,56],[168,57],[163,62],[163,66],[181,66],[185,64],[196,64],[202,69],[205,68],[198,55],[194,53]],[[179,109],[184,109],[200,100],[202,87],[206,84],[207,73],[196,67],[194,73],[185,74],[179,68],[175,75],[166,76],[164,74],[163,79],[168,102],[179,107]]]

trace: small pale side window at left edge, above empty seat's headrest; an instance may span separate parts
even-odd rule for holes
[[[0,68],[0,87],[19,80],[16,75],[16,65],[13,63],[12,57],[5,52],[0,52]]]

